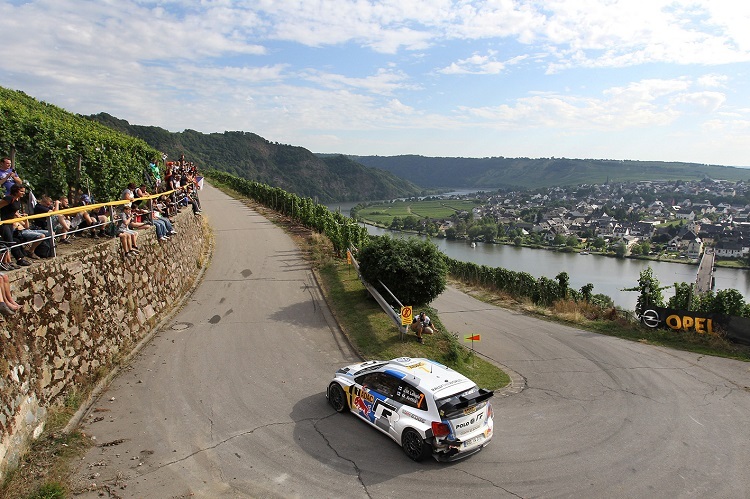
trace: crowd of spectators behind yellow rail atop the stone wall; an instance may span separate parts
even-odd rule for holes
[[[74,238],[117,237],[123,257],[134,258],[140,253],[141,230],[153,227],[159,243],[165,243],[177,234],[173,217],[179,211],[190,207],[194,215],[201,214],[198,191],[202,177],[196,165],[185,161],[184,156],[179,161],[166,162],[163,176],[156,162],[152,162],[145,177],[146,181],[129,183],[123,189],[120,201],[124,202],[97,205],[90,192],[80,189],[70,189],[67,195],[43,193],[37,199],[28,182],[19,176],[13,160],[2,158],[0,272],[51,258],[58,244],[70,244]],[[14,315],[19,308],[11,296],[8,277],[0,273],[0,319]]]

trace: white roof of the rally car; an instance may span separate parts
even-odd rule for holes
[[[450,367],[425,358],[399,357],[381,367],[398,378],[407,379],[436,398],[468,390],[476,386],[473,381]]]

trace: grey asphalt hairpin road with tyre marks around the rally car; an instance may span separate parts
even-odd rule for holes
[[[210,186],[201,201],[214,259],[86,416],[99,446],[80,463],[78,486],[90,491],[78,497],[750,495],[750,365],[539,321],[453,289],[434,303],[441,320],[481,334],[478,352],[520,386],[493,399],[496,434],[482,452],[410,461],[326,403],[333,371],[356,357],[292,241]]]

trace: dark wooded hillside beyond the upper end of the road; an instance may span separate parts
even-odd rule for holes
[[[107,113],[88,116],[137,137],[170,158],[184,154],[199,167],[279,187],[319,202],[392,199],[414,196],[421,188],[382,169],[366,167],[343,155],[318,157],[303,147],[269,142],[250,132],[204,134],[170,132],[131,125]]]

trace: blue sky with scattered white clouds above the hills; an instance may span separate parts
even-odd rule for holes
[[[0,0],[0,85],[313,152],[750,166],[744,0]]]

